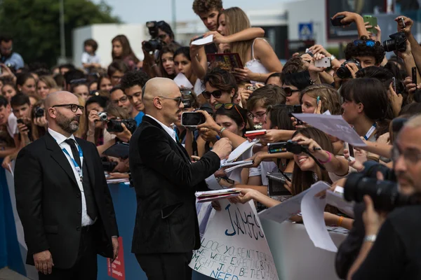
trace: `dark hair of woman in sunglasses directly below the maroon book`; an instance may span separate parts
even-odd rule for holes
[[[232,89],[234,89],[234,92],[239,90],[239,86],[236,83],[234,75],[229,73],[229,71],[220,69],[218,67],[206,73],[206,76],[203,77],[201,82],[203,85],[209,83],[211,87],[216,87],[222,92],[231,92]]]

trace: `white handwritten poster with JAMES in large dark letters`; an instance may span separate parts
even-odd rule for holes
[[[214,279],[278,280],[253,202],[232,204],[220,200],[220,205],[189,266]]]

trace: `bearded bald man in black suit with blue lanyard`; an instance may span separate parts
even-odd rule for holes
[[[75,138],[83,106],[70,92],[46,98],[48,132],[18,154],[16,206],[27,264],[39,279],[97,279],[97,253],[118,254],[116,218],[95,145]]]

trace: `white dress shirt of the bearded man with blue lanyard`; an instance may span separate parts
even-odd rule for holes
[[[58,146],[60,146],[60,149],[65,148],[67,153],[69,153],[69,155],[73,156],[72,149],[70,148],[69,144],[67,144],[65,142],[67,139],[73,139],[74,143],[76,144],[76,148],[78,148],[78,150],[79,150],[79,144],[77,144],[76,139],[74,139],[73,134],[69,138],[67,138],[63,134],[60,134],[58,132],[55,132],[54,130],[51,130],[51,128],[48,128],[48,133],[51,134],[51,136],[55,139],[55,141],[57,141],[57,144],[58,144]],[[62,153],[65,154],[67,160],[69,161],[69,165],[70,165],[70,167],[72,167],[72,170],[73,170],[73,173],[74,173],[74,178],[76,179],[76,182],[77,182],[77,186],[79,187],[79,190],[81,190],[82,227],[84,227],[86,225],[93,225],[93,223],[95,223],[95,221],[93,221],[91,219],[91,217],[88,216],[88,211],[86,210],[85,193],[83,192],[83,184],[82,184],[81,180],[79,179],[79,173],[76,171],[76,167],[74,167],[72,158],[69,155],[67,155],[65,152],[62,152]],[[81,158],[81,165],[83,165],[83,158]]]

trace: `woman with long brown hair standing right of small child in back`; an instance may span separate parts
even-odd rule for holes
[[[125,35],[117,35],[112,41],[112,60],[121,59],[125,62],[129,69],[133,70],[140,66],[140,60],[133,52],[128,38]]]

